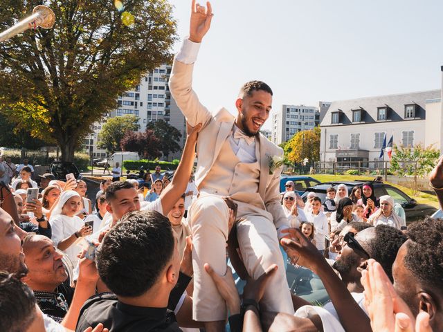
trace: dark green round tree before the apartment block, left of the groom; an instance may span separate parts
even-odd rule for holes
[[[179,129],[172,127],[168,122],[164,120],[150,122],[147,124],[146,130],[154,131],[154,135],[160,140],[159,150],[166,158],[170,153],[180,151],[181,147],[177,142],[181,138],[181,133]]]

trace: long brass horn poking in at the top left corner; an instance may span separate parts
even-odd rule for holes
[[[55,15],[51,8],[43,5],[36,6],[33,10],[33,15],[26,17],[26,19],[19,21],[15,26],[0,33],[0,42],[10,39],[19,33],[23,33],[28,29],[40,28],[50,29],[55,23]]]

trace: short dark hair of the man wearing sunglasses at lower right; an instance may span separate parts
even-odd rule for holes
[[[401,230],[388,225],[377,225],[374,230],[374,238],[368,241],[370,256],[380,263],[390,281],[393,282],[392,264],[399,248],[408,238]]]

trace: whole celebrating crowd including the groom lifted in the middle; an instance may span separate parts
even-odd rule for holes
[[[280,194],[282,150],[259,133],[271,88],[244,84],[237,117],[192,90],[207,6],[192,0],[170,77],[188,121],[172,178],[156,167],[145,190],[115,169],[91,201],[82,180],[38,185],[28,160],[12,174],[0,163],[0,331],[442,331],[443,220],[406,228],[372,183],[330,187],[323,202],[292,181]],[[442,206],[443,158],[430,181]],[[330,301],[291,293],[287,262]]]

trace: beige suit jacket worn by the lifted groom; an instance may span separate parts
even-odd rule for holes
[[[210,113],[204,105],[199,102],[195,91],[192,90],[193,64],[183,64],[174,60],[169,87],[183,112],[186,120],[194,127],[202,123],[203,128],[197,140],[197,169],[195,172],[195,183],[197,187],[204,181],[211,167],[219,155],[221,145],[231,133],[235,117],[228,110],[221,108],[215,113]],[[266,210],[273,215],[273,222],[278,228],[287,225],[288,221],[280,204],[280,174],[282,168],[275,169],[269,174],[269,157],[282,156],[283,150],[270,142],[261,133],[257,136],[260,144],[260,182],[258,192],[263,199]]]

